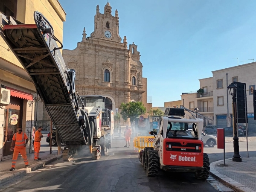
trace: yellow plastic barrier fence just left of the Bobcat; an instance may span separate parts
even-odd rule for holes
[[[145,147],[154,147],[154,136],[134,137],[134,151],[140,152]]]

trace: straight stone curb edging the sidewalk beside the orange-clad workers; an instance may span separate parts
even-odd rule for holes
[[[26,175],[29,172],[35,171],[36,169],[38,169],[40,167],[44,167],[45,165],[52,163],[53,161],[61,159],[61,158],[62,158],[62,154],[58,155],[58,157],[56,157],[56,156],[49,157],[47,159],[41,160],[40,162],[34,163],[33,165],[29,166],[29,168],[18,169],[18,170],[12,171],[12,172],[8,172],[8,173],[6,173],[6,175],[0,176],[0,184],[6,183],[15,177]]]

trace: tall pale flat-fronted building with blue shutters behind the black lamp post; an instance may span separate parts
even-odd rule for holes
[[[248,130],[256,132],[256,120],[253,115],[253,91],[256,84],[256,62],[229,67],[226,69],[212,71],[213,76],[213,102],[215,125],[217,127],[227,126],[227,116],[232,118],[232,96],[229,94],[227,87],[233,81],[246,83],[247,94],[247,117]],[[232,120],[230,126],[232,125]]]

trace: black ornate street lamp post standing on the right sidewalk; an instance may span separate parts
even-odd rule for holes
[[[233,112],[233,147],[234,147],[234,155],[232,160],[236,162],[241,162],[241,156],[239,154],[239,138],[237,137],[237,129],[236,129],[236,123],[237,123],[237,116],[236,116],[236,85],[231,83],[228,87],[228,91],[230,95],[232,95],[232,112]]]

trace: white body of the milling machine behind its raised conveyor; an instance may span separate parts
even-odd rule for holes
[[[90,128],[93,131],[93,145],[100,145],[104,155],[111,148],[114,132],[114,112],[105,108],[105,99],[106,97],[101,95],[81,96],[81,103],[88,112]],[[96,150],[96,147],[93,148],[93,158],[96,158]]]

